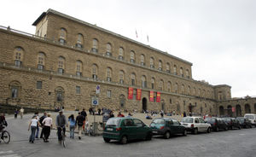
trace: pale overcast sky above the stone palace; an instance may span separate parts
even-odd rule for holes
[[[0,4],[0,26],[34,34],[34,20],[55,9],[190,61],[194,79],[229,84],[232,97],[256,96],[254,0],[5,0]]]

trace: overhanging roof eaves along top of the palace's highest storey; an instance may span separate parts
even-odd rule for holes
[[[142,43],[137,42],[136,40],[133,40],[133,39],[131,39],[131,38],[126,38],[125,36],[122,36],[122,35],[120,35],[120,34],[118,34],[118,33],[108,31],[108,30],[106,30],[106,29],[104,29],[104,28],[102,28],[102,27],[100,27],[100,26],[95,26],[95,25],[92,25],[92,24],[90,24],[90,23],[88,23],[88,22],[85,22],[84,20],[79,20],[79,19],[74,18],[74,17],[72,17],[72,16],[70,16],[70,15],[65,15],[65,14],[63,14],[63,13],[60,13],[60,12],[58,12],[58,11],[55,11],[54,9],[48,9],[46,13],[44,12],[42,15],[40,15],[40,16],[38,17],[38,19],[34,21],[34,23],[32,24],[32,26],[36,26],[36,25],[38,24],[38,22],[39,22],[40,20],[42,20],[42,19],[44,18],[44,16],[45,16],[45,15],[48,15],[49,13],[52,13],[52,14],[54,14],[54,15],[59,15],[59,16],[61,16],[61,17],[67,18],[67,19],[69,19],[69,20],[74,20],[74,21],[79,22],[79,23],[81,23],[81,24],[83,24],[83,25],[85,25],[85,26],[93,27],[93,28],[95,28],[96,30],[100,30],[100,31],[102,31],[102,32],[107,32],[107,33],[109,33],[109,34],[111,34],[111,35],[113,35],[113,36],[115,36],[115,37],[123,38],[123,39],[125,39],[125,40],[127,40],[127,41],[130,41],[131,43],[139,44],[139,45],[141,45],[141,46],[143,46],[143,47],[146,47],[146,48],[148,48],[148,49],[152,49],[152,50],[154,50],[154,51],[156,51],[156,52],[159,52],[159,53],[161,53],[161,54],[163,54],[163,55],[170,56],[170,57],[172,57],[172,58],[174,58],[174,59],[177,59],[178,61],[183,61],[183,62],[189,64],[190,66],[193,66],[193,63],[191,63],[191,62],[189,62],[189,61],[185,61],[185,60],[183,60],[183,59],[181,59],[181,58],[178,58],[177,56],[168,54],[167,52],[161,51],[160,49],[155,49],[155,48],[153,48],[153,47],[150,47],[149,45],[142,44]]]

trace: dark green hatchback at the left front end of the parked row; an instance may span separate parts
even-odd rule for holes
[[[117,117],[108,119],[103,131],[105,142],[117,140],[122,144],[130,140],[151,140],[152,130],[142,120],[131,117]]]

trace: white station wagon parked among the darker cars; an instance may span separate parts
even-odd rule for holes
[[[211,132],[211,125],[207,124],[201,117],[184,117],[181,121],[187,131],[191,131],[194,134],[198,132]]]

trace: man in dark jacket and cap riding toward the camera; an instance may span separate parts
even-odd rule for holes
[[[57,117],[56,117],[56,126],[58,128],[58,140],[60,143],[61,143],[61,139],[62,139],[61,138],[61,128],[64,131],[64,135],[65,135],[65,131],[66,131],[65,125],[67,125],[67,119],[61,110],[61,111],[59,111],[59,115],[57,115]],[[68,125],[67,125],[67,127],[68,127]]]

